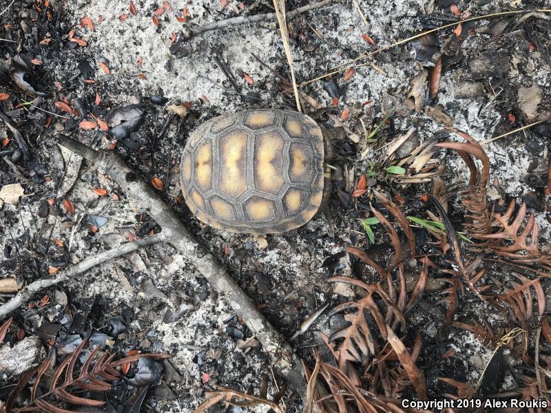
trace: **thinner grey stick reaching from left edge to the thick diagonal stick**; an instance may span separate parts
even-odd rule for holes
[[[120,257],[121,255],[125,255],[127,253],[132,253],[132,251],[136,251],[139,248],[143,248],[144,246],[149,246],[163,240],[165,240],[165,234],[158,233],[150,237],[141,238],[134,242],[127,242],[126,244],[121,244],[111,248],[110,250],[103,251],[93,257],[86,258],[85,260],[82,260],[78,264],[75,264],[69,268],[67,271],[63,271],[63,273],[60,273],[55,278],[39,279],[38,281],[32,282],[22,291],[17,293],[17,295],[12,297],[10,301],[0,306],[0,319],[25,304],[25,302],[28,301],[34,293],[38,293],[44,288],[54,286],[55,284],[59,284],[60,282],[64,282],[67,279],[75,277],[76,275],[82,274],[102,262],[111,260],[115,257]]]

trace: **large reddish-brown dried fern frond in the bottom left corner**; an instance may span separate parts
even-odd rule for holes
[[[50,369],[52,360],[47,358],[41,363],[39,368],[34,368],[25,373],[17,386],[12,390],[8,401],[5,405],[5,413],[18,413],[41,410],[48,413],[69,413],[72,410],[60,407],[69,403],[70,405],[92,406],[98,407],[105,404],[105,401],[91,399],[90,397],[79,395],[83,390],[105,391],[113,387],[112,382],[120,379],[123,374],[116,370],[116,367],[124,363],[132,363],[143,357],[155,359],[167,359],[171,357],[169,354],[135,354],[133,356],[124,357],[123,359],[114,360],[114,355],[105,352],[96,361],[94,358],[99,352],[99,348],[95,348],[87,357],[85,363],[80,369],[78,376],[75,377],[74,369],[77,361],[81,356],[83,348],[88,341],[83,340],[79,347],[74,350],[65,360],[63,360],[58,368],[52,374],[50,388],[37,396],[37,390],[41,387],[42,378],[46,371]],[[15,407],[15,401],[22,390],[34,377],[34,385],[30,392],[30,399],[19,407]],[[63,377],[63,379],[62,379]]]

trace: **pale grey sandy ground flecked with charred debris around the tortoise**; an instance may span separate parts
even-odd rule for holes
[[[251,90],[260,93],[260,106],[283,107],[289,103],[289,98],[276,90],[271,71],[253,58],[256,55],[274,70],[287,73],[282,47],[278,43],[280,34],[273,23],[238,25],[199,34],[189,42],[192,52],[187,57],[175,58],[169,51],[171,39],[183,28],[178,17],[181,20],[185,16],[185,24],[193,28],[195,25],[240,14],[254,14],[260,8],[257,2],[230,0],[225,6],[218,0],[172,0],[169,5],[165,3],[136,1],[135,14],[129,10],[129,3],[122,0],[79,0],[59,5],[65,14],[65,20],[61,22],[63,30],[75,30],[75,36],[87,41],[87,56],[94,62],[93,77],[99,80],[92,87],[76,91],[76,95],[97,90],[102,97],[109,99],[110,107],[107,109],[143,102],[152,95],[165,96],[169,103],[191,102],[195,110],[188,118],[189,125],[184,127],[187,132],[217,114],[251,107],[251,104],[240,100],[216,65],[213,51],[220,50],[244,93]],[[460,10],[472,9],[473,14],[484,14],[506,6],[506,3],[491,1],[486,6],[473,6],[469,2],[459,1],[457,5]],[[309,12],[304,20],[293,19],[291,30],[295,25],[302,28],[306,22],[315,28],[315,33],[306,30],[312,50],[293,47],[299,83],[329,72],[335,65],[353,59],[357,54],[373,50],[373,45],[364,41],[362,34],[370,36],[377,46],[388,45],[417,32],[420,27],[419,16],[430,14],[437,7],[434,1],[421,0],[358,0],[357,4],[368,19],[368,26],[353,2],[336,3]],[[159,8],[165,10],[161,13]],[[156,14],[158,25],[152,18]],[[81,27],[83,17],[89,17],[94,23],[93,32]],[[515,40],[518,39],[514,32],[500,40],[511,44],[509,52],[514,64],[505,74],[510,85],[537,85],[543,91],[543,102],[549,101],[550,67],[542,63],[541,53],[536,51],[526,54],[523,49],[525,45],[521,41],[515,43]],[[472,56],[477,54],[481,43],[490,41],[490,34],[481,33],[466,39],[461,47],[467,56]],[[345,83],[339,78],[341,85],[346,84],[346,94],[340,98],[336,112],[340,114],[345,108],[351,109],[353,113],[364,111],[363,118],[371,123],[374,119],[380,119],[390,107],[398,105],[400,116],[395,120],[397,131],[406,131],[413,126],[419,142],[439,136],[444,125],[430,116],[426,107],[422,107],[419,112],[412,112],[404,106],[404,96],[412,79],[433,67],[433,63],[421,63],[414,58],[413,47],[398,47],[377,56],[375,63],[380,70],[363,65],[355,68],[351,81]],[[109,67],[110,74],[105,74],[99,62]],[[78,59],[52,62],[52,78],[70,78],[77,64]],[[253,79],[253,85],[247,84],[244,73]],[[457,85],[470,80],[470,74],[464,69],[446,72],[441,79],[437,103],[442,105],[443,112],[451,116],[453,126],[479,141],[503,133],[506,112],[503,112],[502,105],[492,103],[490,94],[484,91],[468,98],[458,96]],[[315,96],[322,106],[331,105],[331,96],[324,90],[322,83],[313,83],[305,90]],[[371,103],[363,107],[362,103],[368,100]],[[540,108],[541,112],[545,111],[543,105]],[[156,114],[147,114],[148,119],[143,128],[146,138],[158,133],[167,114],[162,109]],[[87,132],[74,133],[99,147],[108,147],[112,142],[103,135],[91,138]],[[183,134],[184,131],[176,122],[171,123],[158,142],[158,153],[152,153],[145,160],[132,159],[136,168],[148,179],[152,176],[165,179],[163,195],[175,208],[178,208],[178,155],[185,142]],[[499,190],[519,201],[533,191],[528,176],[537,175],[538,171],[543,173],[547,165],[548,151],[545,145],[536,145],[535,149],[527,145],[531,134],[526,131],[525,136],[508,136],[484,146],[490,156],[492,180],[498,178]],[[125,151],[127,149],[121,148],[122,153]],[[435,158],[441,160],[444,155],[444,152],[436,153]],[[364,171],[374,157],[375,154],[366,160],[353,158],[349,166],[355,167],[356,171]],[[455,155],[447,156],[446,164],[446,182],[450,193],[455,193],[466,182],[468,171]],[[530,174],[529,169],[532,171]],[[98,198],[90,190],[92,187],[105,188],[109,195]],[[42,195],[55,189],[54,182],[45,183]],[[49,215],[37,221],[35,231],[28,224],[34,219],[34,213],[22,210],[19,223],[11,227],[12,236],[19,238],[26,231],[36,235],[38,231],[50,231],[54,226],[52,238],[65,240],[65,243],[72,238],[70,261],[79,261],[96,251],[128,240],[142,226],[136,220],[136,215],[143,212],[140,205],[120,193],[119,199],[114,200],[113,193],[117,193],[113,182],[101,171],[91,168],[76,180],[70,192],[70,198],[75,200],[77,215],[72,218],[65,216],[61,222]],[[455,206],[459,207],[457,198],[451,198]],[[13,215],[19,213],[17,207],[9,205],[4,207],[4,211]],[[79,221],[79,217],[87,215],[106,216],[109,221],[98,233],[91,234],[87,218]],[[189,220],[187,222],[191,228],[198,232],[211,251],[236,276],[242,288],[258,301],[267,317],[287,336],[292,335],[302,319],[318,306],[337,298],[335,291],[326,282],[328,271],[322,267],[324,261],[340,253],[346,244],[365,239],[357,215],[345,215],[340,207],[333,209],[333,219],[337,222],[335,237],[325,236],[329,232],[329,224],[322,215],[299,231],[269,235],[260,240],[248,235],[236,236],[205,228],[185,212],[181,216]],[[537,215],[537,223],[543,242],[550,236],[551,224],[545,219],[544,213]],[[8,242],[8,238],[3,237],[0,246]],[[247,338],[245,327],[233,317],[231,309],[209,288],[190,262],[190,257],[175,254],[170,246],[158,245],[131,257],[107,262],[65,286],[72,292],[74,299],[101,297],[107,301],[109,312],[113,315],[120,313],[121,308],[130,306],[134,320],[123,334],[141,337],[141,346],[174,354],[171,364],[177,373],[173,374],[172,381],[167,380],[170,397],[166,397],[166,394],[156,395],[149,401],[149,405],[159,411],[191,412],[203,401],[203,394],[211,385],[246,390],[249,384],[258,386],[259,372],[269,374],[270,371],[260,348],[240,348],[242,340]],[[351,273],[349,257],[340,260],[338,271],[345,275]],[[147,279],[158,288],[158,294],[152,296],[145,284]],[[177,321],[163,322],[167,311],[178,310],[181,311],[181,317]],[[426,317],[419,316],[417,321],[420,323],[423,320]],[[330,321],[322,318],[317,328],[329,331]],[[431,334],[435,334],[435,331]],[[306,348],[313,342],[315,339],[308,336],[299,347]],[[492,348],[482,346],[470,332],[455,335],[450,347],[461,352],[461,362],[468,371],[466,379],[475,384],[492,354]],[[505,388],[508,386],[512,386],[510,377]],[[270,391],[273,394],[273,389]]]

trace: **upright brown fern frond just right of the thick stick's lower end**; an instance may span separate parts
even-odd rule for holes
[[[365,297],[338,304],[328,313],[328,316],[331,317],[345,310],[352,310],[351,313],[344,314],[344,319],[350,322],[349,326],[334,332],[329,337],[329,343],[342,339],[339,349],[335,350],[335,354],[337,354],[337,366],[343,372],[352,376],[353,381],[357,385],[360,385],[361,381],[355,372],[355,368],[353,368],[353,363],[362,363],[363,359],[379,351],[379,344],[373,334],[370,326],[371,322],[368,321],[366,313],[370,314],[375,320],[375,326],[377,326],[380,336],[383,339],[387,338],[386,321],[373,295],[379,295],[386,306],[391,308],[393,315],[401,323],[402,330],[405,328],[406,319],[402,311],[380,284],[366,284],[350,277],[332,277],[329,279],[329,282],[352,284],[358,288],[362,288],[366,292]]]

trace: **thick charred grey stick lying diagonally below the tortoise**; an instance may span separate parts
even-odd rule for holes
[[[180,252],[191,257],[191,264],[196,266],[220,296],[227,299],[238,317],[245,321],[253,335],[256,335],[262,343],[262,348],[269,355],[271,363],[280,368],[281,372],[287,376],[289,385],[297,390],[301,396],[304,396],[306,389],[302,380],[300,359],[293,352],[289,343],[258,311],[253,301],[231,278],[231,275],[216,260],[216,257],[205,246],[202,246],[197,237],[180,222],[174,211],[158,198],[155,191],[142,180],[134,180],[134,171],[114,153],[96,151],[67,136],[61,137],[59,145],[94,162],[125,193],[134,197],[134,200],[163,229],[166,239],[174,244]]]

